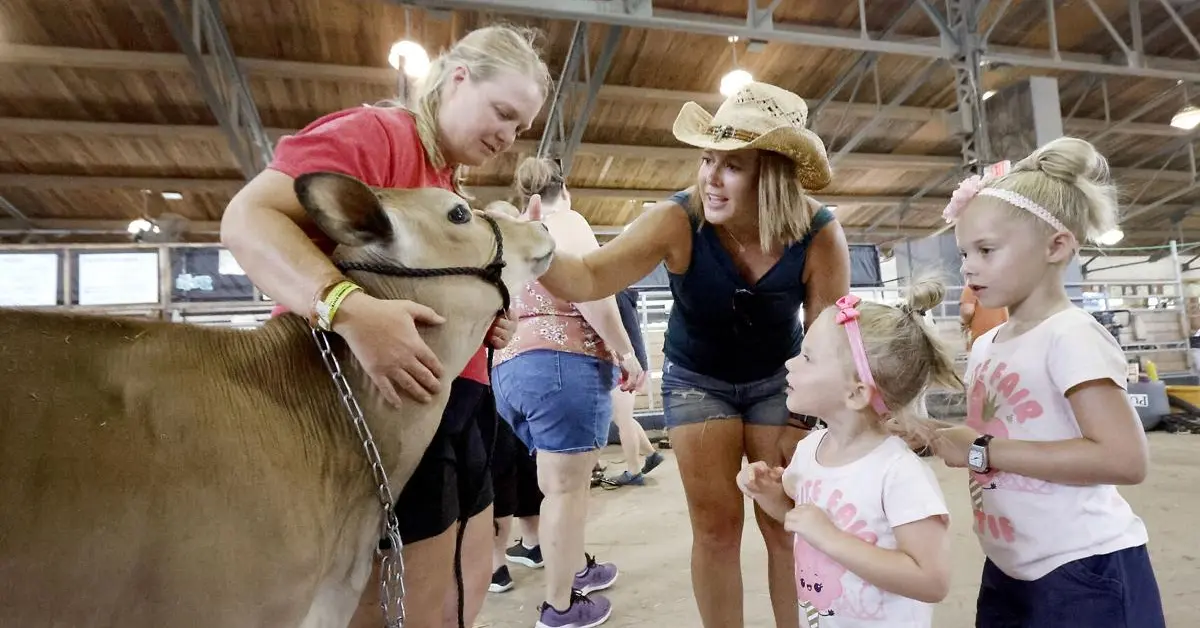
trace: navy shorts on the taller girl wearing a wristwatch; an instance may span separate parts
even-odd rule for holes
[[[1163,599],[1145,545],[1072,561],[1032,581],[990,560],[976,628],[1165,628]]]

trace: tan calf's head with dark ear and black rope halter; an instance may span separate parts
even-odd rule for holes
[[[486,267],[496,256],[496,234],[485,211],[446,190],[372,189],[338,173],[304,174],[295,192],[317,226],[340,246],[341,261],[414,269]],[[503,239],[502,279],[515,293],[550,267],[554,240],[540,222],[517,219],[516,208],[492,203],[486,210]]]

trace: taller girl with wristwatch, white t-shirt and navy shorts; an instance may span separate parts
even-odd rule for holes
[[[1070,303],[1067,264],[1116,227],[1108,163],[1060,138],[995,179],[971,178],[946,210],[962,274],[1008,322],[967,364],[967,421],[935,453],[970,467],[988,560],[976,626],[1165,626],[1146,526],[1115,485],[1146,477],[1141,421],[1116,340]]]

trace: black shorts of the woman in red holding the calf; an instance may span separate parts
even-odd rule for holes
[[[455,379],[442,424],[396,498],[400,539],[406,545],[437,537],[492,504],[490,467],[497,423],[492,389],[473,379]]]

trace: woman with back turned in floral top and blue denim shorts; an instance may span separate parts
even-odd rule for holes
[[[530,157],[517,169],[522,202],[538,195],[556,255],[599,249],[592,227],[571,210],[557,163]],[[497,352],[496,406],[517,438],[538,455],[542,497],[538,537],[546,568],[546,602],[538,628],[588,628],[608,620],[612,604],[594,596],[617,568],[583,552],[592,467],[608,442],[610,390],[632,390],[643,371],[612,297],[565,301],[536,281],[512,295],[520,322]]]

